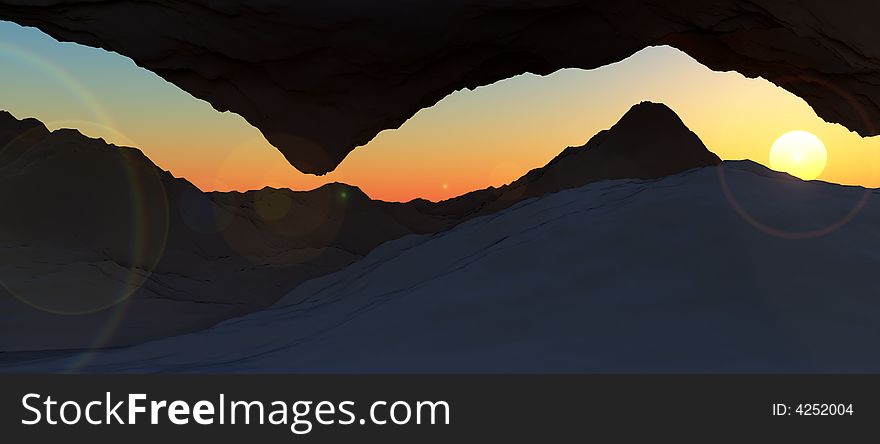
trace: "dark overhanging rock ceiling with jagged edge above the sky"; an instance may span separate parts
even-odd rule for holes
[[[0,0],[2,19],[119,52],[241,114],[310,173],[457,89],[659,44],[877,134],[878,15],[861,0]]]

